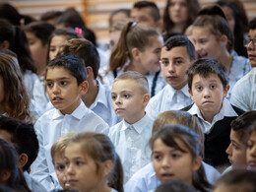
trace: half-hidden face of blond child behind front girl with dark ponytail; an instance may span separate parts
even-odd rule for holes
[[[63,189],[69,189],[68,183],[67,183],[67,175],[65,172],[65,160],[64,156],[61,156],[60,154],[56,154],[54,157],[54,169],[57,174],[59,184]]]

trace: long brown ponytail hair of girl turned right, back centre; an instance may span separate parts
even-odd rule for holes
[[[131,51],[133,48],[136,47],[140,51],[144,51],[146,46],[153,43],[153,36],[160,36],[160,32],[143,24],[127,23],[110,55],[108,71],[116,71],[123,67],[128,58],[132,60]]]

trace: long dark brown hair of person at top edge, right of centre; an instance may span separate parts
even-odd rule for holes
[[[174,27],[173,22],[169,18],[169,12],[168,12],[168,9],[169,9],[169,6],[170,6],[170,2],[171,2],[171,0],[166,0],[166,6],[164,8],[163,16],[162,16],[163,31],[166,32],[166,33],[170,33],[171,30]],[[188,10],[187,10],[188,19],[187,19],[187,25],[186,25],[186,28],[187,28],[196,19],[197,14],[198,14],[198,12],[200,10],[200,5],[198,3],[198,0],[186,0],[186,2],[187,2],[187,8],[188,8]],[[183,32],[185,32],[186,28],[183,29]]]

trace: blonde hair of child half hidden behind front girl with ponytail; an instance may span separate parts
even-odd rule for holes
[[[69,141],[74,135],[75,135],[75,132],[67,133],[65,135],[60,136],[59,139],[54,142],[50,151],[53,164],[54,164],[54,158],[57,154],[60,156],[64,155],[64,151],[67,148]]]

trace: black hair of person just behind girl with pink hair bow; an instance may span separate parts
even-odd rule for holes
[[[65,28],[72,28],[75,30],[75,28],[82,29],[82,32],[84,34],[84,37],[86,39],[89,39],[91,42],[93,42],[96,45],[96,34],[92,30],[86,27],[86,24],[81,17],[81,15],[74,9],[74,8],[68,8],[66,9],[61,16],[59,16],[57,22],[57,25],[64,25]]]

